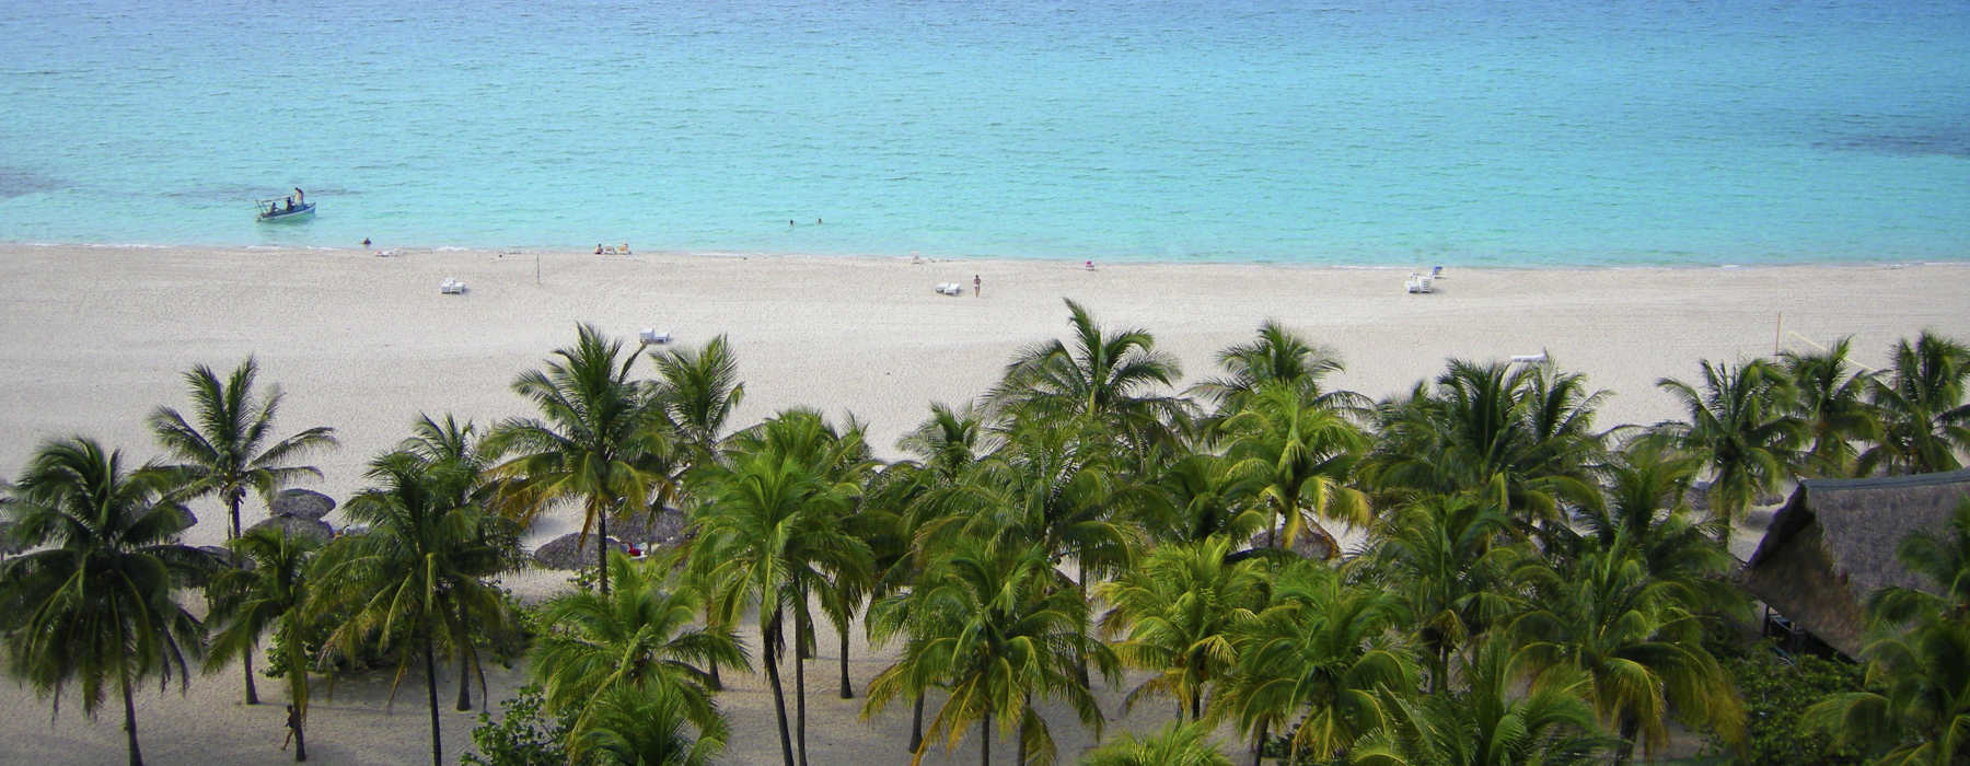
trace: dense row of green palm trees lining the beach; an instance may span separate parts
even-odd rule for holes
[[[1846,341],[1706,360],[1698,384],[1661,382],[1688,419],[1600,429],[1606,394],[1550,364],[1450,360],[1375,402],[1332,388],[1340,360],[1277,323],[1178,392],[1149,331],[1068,313],[1066,339],[1020,349],[977,402],[934,404],[898,461],[875,457],[865,423],[806,408],[733,427],[745,388],[723,337],[650,352],[642,378],[642,352],[583,325],[514,380],[536,417],[420,419],[347,504],[366,532],[319,547],[238,536],[236,516],[248,490],[311,471],[286,463],[331,433],[260,447],[278,392],[254,404],[250,360],[229,384],[199,368],[201,421],[154,417],[185,467],[122,473],[73,439],[8,490],[16,536],[41,545],[0,571],[10,670],[43,691],[81,681],[91,713],[118,681],[136,762],[132,681],[183,677],[207,646],[219,668],[268,630],[284,652],[327,630],[284,662],[303,721],[305,668],[380,648],[400,679],[424,668],[437,764],[435,662],[459,664],[467,709],[485,640],[516,622],[489,581],[565,506],[597,542],[644,514],[690,530],[650,561],[597,543],[597,589],[544,606],[530,671],[573,713],[577,762],[713,758],[721,668],[758,662],[782,762],[806,764],[823,622],[841,697],[857,626],[896,648],[863,713],[908,701],[916,758],[977,731],[985,762],[1001,740],[1052,762],[1042,705],[1099,734],[1097,691],[1135,679],[1127,705],[1160,699],[1178,723],[1103,762],[1221,762],[1208,734],[1223,725],[1255,758],[1625,760],[1674,721],[1741,734],[1704,636],[1743,610],[1716,575],[1751,502],[1797,477],[1954,469],[1970,447],[1970,351],[1927,333],[1881,372]],[[256,425],[217,427],[225,412]],[[199,494],[230,504],[234,561],[173,543]],[[171,599],[191,585],[211,638]]]

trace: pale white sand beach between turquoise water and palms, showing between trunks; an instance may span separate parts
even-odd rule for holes
[[[1426,264],[1418,264],[1426,266]],[[1334,384],[1373,398],[1407,390],[1442,370],[1448,356],[1503,360],[1548,352],[1611,392],[1602,427],[1676,417],[1657,378],[1694,380],[1698,360],[1769,354],[1775,343],[1806,349],[1854,337],[1862,364],[1881,364],[1889,347],[1923,329],[1970,337],[1970,264],[1775,266],[1623,270],[1460,270],[1436,291],[1403,291],[1409,270],[1282,266],[1168,266],[1070,262],[924,262],[902,258],[796,258],[587,252],[404,250],[378,258],[361,250],[219,250],[116,246],[0,246],[0,475],[16,477],[37,443],[89,435],[122,447],[132,463],[156,455],[144,429],[158,406],[185,406],[179,374],[193,364],[229,370],[260,358],[262,382],[278,382],[278,435],[333,425],[339,451],[317,455],[325,479],[313,488],[347,498],[362,465],[408,433],[420,414],[455,414],[479,423],[526,414],[512,378],[558,347],[575,323],[593,323],[630,347],[642,327],[668,329],[697,347],[727,335],[739,354],[747,400],[737,423],[788,406],[812,406],[871,425],[883,457],[916,425],[930,402],[981,394],[1020,347],[1062,337],[1064,297],[1087,305],[1107,327],[1143,327],[1184,364],[1186,384],[1215,374],[1215,351],[1247,341],[1277,319],[1330,345],[1347,364]],[[538,274],[538,280],[536,280]],[[973,276],[983,295],[969,291]],[[467,284],[441,295],[439,282]],[[938,295],[940,282],[967,289]],[[1783,315],[1783,331],[1781,331]],[[1797,335],[1795,335],[1797,333]],[[189,542],[219,543],[217,502]],[[248,502],[244,522],[266,516]],[[339,514],[329,516],[341,524]],[[548,520],[546,540],[573,528]],[[520,591],[554,589],[554,577],[516,577]],[[835,697],[837,648],[821,638],[810,668],[810,746],[816,764],[900,762],[910,711],[898,703],[877,721],[859,719],[861,699]],[[853,648],[857,691],[885,664]],[[492,695],[520,683],[492,670]],[[778,758],[772,697],[762,679],[729,679],[719,701],[733,719],[727,762]],[[353,679],[309,717],[309,754],[319,764],[400,764],[429,758],[420,679],[386,713],[388,679]],[[449,673],[445,689],[453,689]],[[268,705],[240,705],[238,671],[193,677],[187,695],[138,699],[144,754],[156,764],[264,764],[282,756],[280,685],[262,683]],[[788,683],[792,691],[792,683]],[[323,689],[325,691],[325,689]],[[477,693],[475,693],[477,697]],[[1149,705],[1119,713],[1111,727],[1149,731],[1170,713]],[[445,707],[445,752],[469,744],[477,713]],[[122,758],[120,717],[97,723],[79,699],[49,707],[32,691],[0,683],[0,762],[112,762]],[[1093,742],[1072,717],[1054,717],[1060,754]],[[1001,740],[999,748],[1011,748]],[[930,762],[975,762],[975,744]],[[967,754],[969,752],[969,754]]]

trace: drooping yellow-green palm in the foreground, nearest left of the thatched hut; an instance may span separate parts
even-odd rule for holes
[[[1726,740],[1743,738],[1743,703],[1704,650],[1696,597],[1682,581],[1653,579],[1625,542],[1572,567],[1531,565],[1529,610],[1513,620],[1531,668],[1564,668],[1588,679],[1594,713],[1621,734],[1617,762],[1637,742],[1669,740],[1669,707]]]

